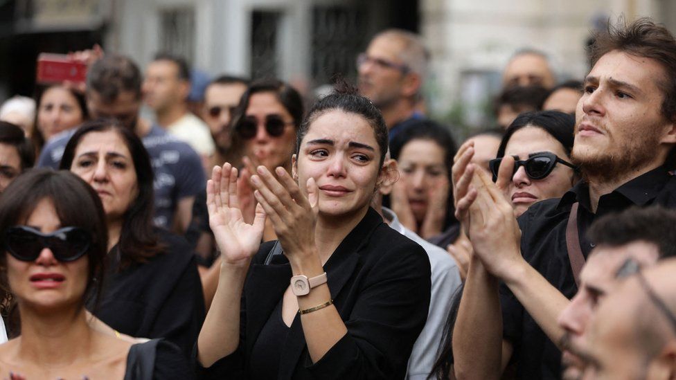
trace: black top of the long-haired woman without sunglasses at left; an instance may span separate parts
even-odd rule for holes
[[[157,230],[166,251],[143,264],[119,269],[116,248],[109,254],[102,298],[89,309],[118,332],[166,338],[186,357],[204,322],[204,293],[195,257],[185,239]]]

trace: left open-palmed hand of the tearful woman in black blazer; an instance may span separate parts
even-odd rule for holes
[[[226,264],[248,264],[258,251],[265,228],[265,211],[256,206],[252,224],[242,216],[237,197],[237,168],[225,163],[223,168],[213,168],[206,183],[206,206],[209,226]]]

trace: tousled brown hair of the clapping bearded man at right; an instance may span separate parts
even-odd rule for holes
[[[664,92],[661,112],[667,120],[676,122],[676,39],[664,26],[643,17],[627,25],[624,19],[617,24],[608,23],[607,30],[598,32],[591,46],[591,66],[603,55],[621,51],[636,57],[659,62],[664,76],[656,78],[657,86]]]

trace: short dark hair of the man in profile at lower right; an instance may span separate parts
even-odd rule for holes
[[[594,221],[587,237],[597,246],[647,242],[657,246],[660,258],[676,256],[676,210],[632,206]]]

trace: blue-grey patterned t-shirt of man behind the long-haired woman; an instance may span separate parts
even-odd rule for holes
[[[51,139],[42,150],[37,166],[58,169],[64,148],[75,130],[62,132]],[[154,171],[154,224],[170,228],[178,201],[204,191],[206,178],[202,161],[193,148],[157,125],[153,125],[141,141],[148,150]]]

